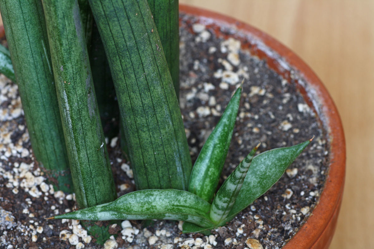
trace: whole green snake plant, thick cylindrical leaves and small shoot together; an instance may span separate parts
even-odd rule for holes
[[[56,189],[74,186],[80,208],[51,219],[182,220],[184,233],[209,233],[312,141],[256,155],[258,143],[216,192],[243,83],[192,167],[178,105],[178,0],[0,0],[0,12],[9,44],[0,71],[18,84],[36,161]],[[137,191],[116,199],[101,121],[118,109]],[[110,235],[83,225],[99,243]]]

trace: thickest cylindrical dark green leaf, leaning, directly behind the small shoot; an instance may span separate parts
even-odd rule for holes
[[[191,158],[146,0],[90,0],[109,61],[137,189],[188,187]]]

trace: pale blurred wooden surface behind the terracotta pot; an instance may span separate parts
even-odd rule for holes
[[[180,0],[257,27],[321,78],[343,120],[347,171],[330,249],[374,248],[374,1]]]

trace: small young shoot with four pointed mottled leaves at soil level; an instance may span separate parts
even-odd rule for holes
[[[240,102],[240,86],[224,111],[221,119],[206,143],[215,147],[228,134],[231,139],[232,129],[223,129],[235,122],[237,109]],[[235,115],[232,115],[235,113]],[[217,132],[218,131],[218,132]],[[217,134],[218,133],[218,134]],[[224,134],[222,134],[224,133]],[[313,139],[313,138],[312,138]],[[283,147],[269,150],[255,156],[260,143],[243,159],[232,174],[227,177],[212,203],[207,198],[198,196],[197,188],[190,188],[190,192],[184,190],[138,190],[119,197],[117,200],[90,208],[80,209],[67,214],[56,215],[49,219],[76,219],[76,220],[182,220],[183,233],[209,233],[209,230],[221,227],[232,220],[237,213],[250,205],[255,199],[264,194],[283,175],[288,166],[300,155],[312,139],[291,147]],[[220,165],[211,165],[211,161],[221,163],[226,158],[228,145],[218,147],[214,153],[203,153],[205,144],[199,154],[198,160],[206,162],[199,165],[202,172],[191,174],[190,183],[194,182],[194,175],[203,175],[205,170],[213,168],[216,172],[221,170]],[[224,161],[224,160],[223,160]],[[208,166],[209,168],[208,168]],[[215,192],[215,184],[218,183],[220,174],[216,178],[205,177],[199,184],[199,189],[211,187],[210,192]],[[196,181],[198,182],[198,181]],[[196,186],[196,185],[195,185]],[[190,184],[191,187],[191,184]]]

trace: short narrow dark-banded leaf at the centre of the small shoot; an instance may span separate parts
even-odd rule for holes
[[[236,169],[227,177],[226,181],[222,184],[214,197],[211,212],[209,214],[211,220],[219,224],[229,214],[237,195],[242,187],[244,178],[248,172],[249,166],[251,166],[252,158],[254,157],[258,147],[261,143],[257,144],[256,147],[240,162]]]

